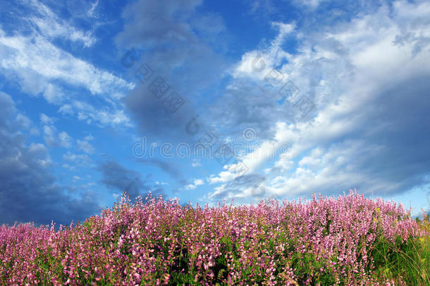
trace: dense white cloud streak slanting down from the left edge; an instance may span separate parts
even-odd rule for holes
[[[133,83],[75,58],[39,35],[1,36],[0,44],[6,48],[0,66],[24,79],[25,73],[22,71],[30,71],[47,81],[62,80],[87,88],[94,95],[110,95],[112,90],[130,90],[134,87]]]

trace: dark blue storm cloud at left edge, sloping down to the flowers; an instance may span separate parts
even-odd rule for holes
[[[28,145],[23,130],[13,127],[17,114],[12,98],[0,92],[0,224],[68,225],[99,213],[92,192],[72,198],[56,184],[45,146]]]

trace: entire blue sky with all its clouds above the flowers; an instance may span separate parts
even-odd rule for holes
[[[0,0],[0,223],[123,190],[429,210],[428,1]]]

